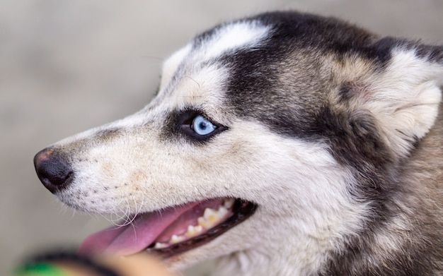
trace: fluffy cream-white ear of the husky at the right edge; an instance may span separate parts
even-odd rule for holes
[[[357,108],[374,115],[389,148],[405,157],[435,124],[442,100],[443,47],[396,42],[386,64],[369,78],[359,91]]]

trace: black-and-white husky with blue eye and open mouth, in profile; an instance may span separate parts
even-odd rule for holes
[[[214,275],[442,275],[443,47],[264,13],[195,37],[144,109],[35,156],[126,220],[84,253]],[[130,215],[128,215],[130,214]]]

